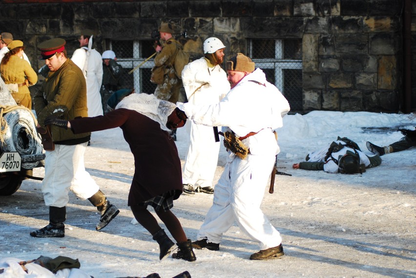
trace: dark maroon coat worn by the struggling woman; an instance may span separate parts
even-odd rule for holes
[[[173,113],[172,113],[173,114]],[[160,124],[128,109],[116,109],[104,116],[70,121],[74,133],[120,127],[134,156],[134,176],[128,205],[147,201],[172,189],[174,199],[182,193],[182,170],[178,150]]]

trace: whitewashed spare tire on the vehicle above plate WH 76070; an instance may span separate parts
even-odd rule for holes
[[[5,113],[3,118],[7,122],[7,131],[0,138],[2,152],[17,151],[20,155],[42,153],[42,140],[36,131],[33,114],[30,111],[16,108]],[[40,161],[24,163],[21,168],[33,169],[39,163]]]

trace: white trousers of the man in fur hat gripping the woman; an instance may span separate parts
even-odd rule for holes
[[[213,204],[197,239],[220,243],[222,235],[236,221],[259,243],[260,250],[278,246],[282,242],[280,233],[260,209],[275,156],[249,155],[242,160],[231,154],[229,160],[232,157],[215,185]]]

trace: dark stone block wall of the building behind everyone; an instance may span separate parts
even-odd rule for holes
[[[80,30],[95,29],[95,46],[102,52],[106,38],[148,39],[169,20],[177,33],[187,29],[191,53],[200,52],[210,36],[223,40],[228,56],[246,53],[247,38],[302,38],[304,111],[403,107],[402,0],[36,2],[3,0],[0,7],[0,31],[24,41],[35,70],[42,66],[36,46],[45,39],[65,38],[72,53]],[[412,89],[415,110],[416,82]]]

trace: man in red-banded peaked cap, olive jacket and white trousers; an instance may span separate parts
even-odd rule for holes
[[[54,38],[38,45],[41,58],[49,68],[42,88],[33,97],[38,128],[46,128],[49,115],[72,120],[87,117],[86,83],[81,69],[66,54],[66,41]],[[64,237],[66,204],[71,190],[80,200],[88,199],[101,213],[96,229],[104,228],[119,210],[107,201],[103,192],[84,167],[84,152],[90,132],[74,134],[71,130],[50,127],[54,148],[46,150],[45,176],[42,181],[44,201],[49,206],[49,224],[32,231],[32,237]]]

